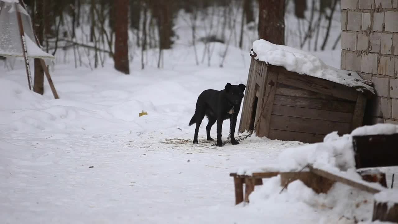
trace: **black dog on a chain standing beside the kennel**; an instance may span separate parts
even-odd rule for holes
[[[213,141],[210,137],[210,130],[211,126],[217,121],[217,146],[222,146],[222,122],[229,118],[231,122],[231,143],[232,145],[239,144],[235,140],[234,134],[236,117],[240,110],[245,88],[246,86],[242,83],[239,85],[227,83],[223,90],[208,89],[199,95],[196,102],[195,114],[189,122],[189,126],[196,123],[195,136],[193,137],[194,144],[198,143],[199,126],[205,115],[209,119],[209,123],[206,126],[207,141]]]

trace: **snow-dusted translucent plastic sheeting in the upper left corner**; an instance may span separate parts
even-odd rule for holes
[[[5,57],[23,57],[16,8],[21,13],[27,57],[54,59],[53,55],[44,52],[35,43],[30,16],[17,0],[0,0],[0,55]]]

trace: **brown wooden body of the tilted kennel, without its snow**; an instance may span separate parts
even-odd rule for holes
[[[254,58],[255,53],[246,84],[240,133],[255,128],[259,137],[314,143],[323,141],[330,132],[347,134],[362,126],[371,91],[365,88],[361,92]]]

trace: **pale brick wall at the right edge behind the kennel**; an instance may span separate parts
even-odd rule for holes
[[[398,0],[341,0],[341,69],[372,81],[365,124],[398,124]]]

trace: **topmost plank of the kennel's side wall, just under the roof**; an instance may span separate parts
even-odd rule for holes
[[[272,68],[275,70],[274,67]],[[283,70],[280,68],[276,69],[276,71]],[[281,72],[278,82],[345,100],[357,100],[358,92],[354,88],[309,75],[301,75],[284,70],[283,73]]]

